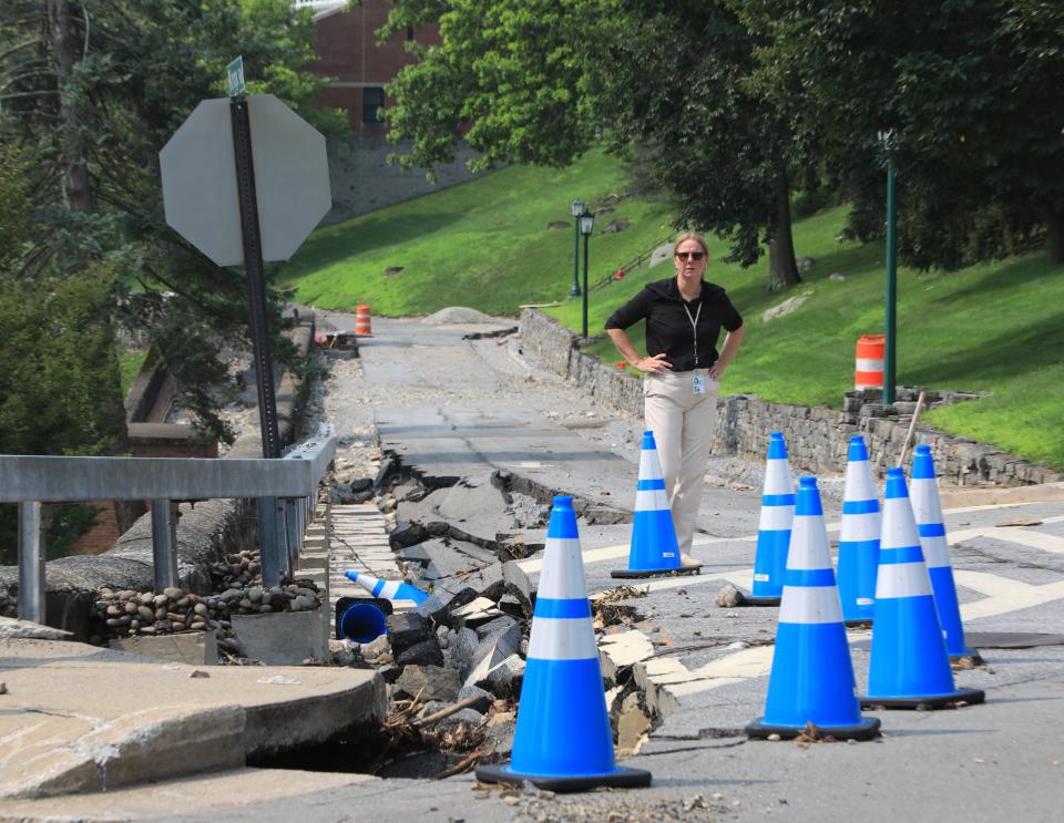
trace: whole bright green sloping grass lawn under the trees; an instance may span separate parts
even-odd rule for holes
[[[522,304],[565,300],[572,285],[573,229],[569,204],[583,197],[602,215],[591,240],[595,282],[672,233],[667,203],[638,196],[614,202],[628,187],[624,167],[601,152],[565,169],[513,167],[315,232],[275,277],[296,299],[354,311],[365,302],[385,316],[426,315],[469,306],[516,315]],[[799,256],[816,259],[806,282],[768,295],[767,263],[743,270],[710,261],[707,277],[728,289],[746,318],[747,336],[725,378],[725,391],[766,400],[839,407],[853,381],[853,348],[882,331],[884,266],[881,244],[839,244],[846,213],[835,208],[795,226]],[[623,230],[600,234],[615,219]],[[566,227],[549,229],[551,222]],[[714,243],[712,255],[726,254]],[[401,266],[387,276],[385,269]],[[847,276],[833,281],[829,275]],[[645,282],[671,277],[672,261],[630,271],[590,294],[590,330]],[[795,313],[768,323],[765,309],[808,295]],[[902,268],[898,285],[898,381],[986,397],[927,414],[943,431],[996,444],[1064,469],[1064,268],[1045,253],[951,274]],[[580,301],[546,310],[580,328]],[[643,349],[642,329],[632,330]],[[607,340],[592,348],[618,356]]]

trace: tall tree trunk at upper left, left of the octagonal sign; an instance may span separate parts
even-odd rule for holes
[[[59,82],[59,115],[63,124],[63,193],[73,212],[93,209],[92,181],[89,177],[89,161],[85,157],[85,138],[82,134],[76,96],[71,85],[74,74],[74,42],[70,28],[69,0],[48,0],[48,24],[55,53],[55,75]]]

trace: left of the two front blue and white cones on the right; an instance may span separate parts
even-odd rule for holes
[[[816,477],[799,481],[765,717],[746,733],[794,738],[809,723],[840,740],[879,733],[879,719],[861,717],[857,700]]]

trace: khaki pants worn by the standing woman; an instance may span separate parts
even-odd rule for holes
[[[705,379],[705,394],[695,394],[695,374]],[[654,432],[657,443],[665,493],[683,554],[690,554],[695,535],[719,390],[720,383],[709,377],[707,369],[647,374],[643,380],[646,428]]]

